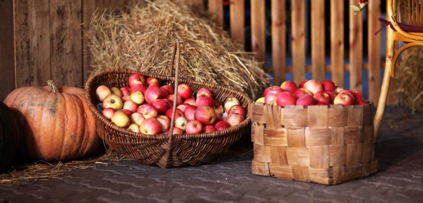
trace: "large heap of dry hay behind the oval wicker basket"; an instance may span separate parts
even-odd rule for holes
[[[157,0],[121,16],[96,12],[86,33],[94,72],[126,68],[167,75],[173,44],[179,38],[182,78],[261,97],[269,86],[262,63],[209,17],[192,12],[187,2]]]

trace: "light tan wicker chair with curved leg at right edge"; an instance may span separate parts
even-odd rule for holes
[[[398,11],[401,23],[397,22],[398,15],[396,15],[395,12]],[[423,32],[410,32],[404,30],[406,26],[414,26],[417,28],[414,30],[423,29],[423,27],[420,27],[423,26],[423,1],[419,3],[419,0],[388,0],[387,16],[388,21],[392,24],[392,29],[387,29],[385,73],[383,75],[382,88],[374,119],[375,140],[377,139],[382,122],[390,80],[391,77],[395,76],[395,65],[398,57],[409,47],[423,46]],[[394,54],[395,41],[402,41],[405,45]]]

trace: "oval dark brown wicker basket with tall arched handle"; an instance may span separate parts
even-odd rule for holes
[[[178,78],[179,70],[179,41],[177,47],[177,67],[176,78]],[[175,56],[175,51],[173,51]],[[173,69],[172,59],[172,67]],[[162,168],[182,165],[200,165],[202,162],[210,162],[214,157],[222,152],[226,152],[229,147],[244,135],[246,128],[250,124],[250,112],[248,106],[252,102],[251,99],[235,89],[222,87],[215,84],[207,84],[195,81],[179,79],[179,82],[188,84],[192,88],[192,92],[198,89],[207,88],[214,93],[216,100],[223,101],[228,97],[236,97],[241,102],[241,105],[246,109],[246,119],[239,125],[229,127],[224,130],[213,133],[198,133],[198,134],[183,134],[183,135],[146,135],[142,133],[134,133],[122,127],[118,127],[105,118],[97,109],[96,105],[99,103],[95,95],[96,88],[100,85],[107,87],[123,87],[128,86],[128,77],[136,71],[123,69],[109,69],[96,73],[88,79],[85,85],[85,99],[89,108],[93,112],[97,132],[99,136],[117,152],[124,154],[126,157],[140,160],[146,164],[157,164]],[[155,77],[161,84],[169,84],[172,87],[178,84],[178,79],[174,77],[162,76],[151,73],[143,73],[146,77]],[[175,93],[177,95],[177,89]],[[176,106],[176,100],[174,103]],[[175,109],[175,108],[174,108]],[[172,126],[175,111],[172,116]],[[173,127],[171,127],[173,129]]]

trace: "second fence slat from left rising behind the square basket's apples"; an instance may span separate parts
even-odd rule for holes
[[[299,84],[305,79],[305,0],[291,1],[292,77]]]

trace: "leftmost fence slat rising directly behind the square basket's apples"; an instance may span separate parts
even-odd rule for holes
[[[286,12],[285,1],[272,0],[272,71],[273,84],[285,80],[286,68]]]

